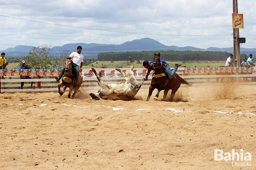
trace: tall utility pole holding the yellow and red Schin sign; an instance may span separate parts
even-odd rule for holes
[[[237,0],[233,0],[233,13],[238,14]],[[240,43],[237,41],[239,38],[239,28],[233,28],[233,47],[234,47],[234,66],[240,66]]]

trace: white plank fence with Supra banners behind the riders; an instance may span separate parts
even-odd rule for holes
[[[120,68],[122,71],[126,72],[129,75],[130,69],[129,68]],[[97,72],[102,72],[102,79],[106,83],[110,84],[119,84],[124,77],[115,69],[95,69]],[[85,90],[97,90],[99,89],[99,85],[97,83],[97,78],[92,72],[91,69],[83,69],[83,88]],[[206,85],[207,83],[217,83],[218,79],[221,77],[234,77],[234,81],[245,81],[245,77],[248,78],[246,83],[248,84],[256,84],[254,78],[256,74],[241,74],[241,73],[234,73],[234,74],[225,74],[225,75],[216,75],[216,73],[192,73],[192,74],[184,74],[184,68],[179,68],[177,71],[182,78],[187,80],[189,83],[192,83],[193,86],[198,85]],[[134,73],[136,79],[141,84],[143,79],[142,76],[145,77],[146,69],[143,68],[135,68]],[[152,73],[151,73],[152,75]],[[9,79],[11,77],[11,79]],[[41,76],[40,78],[35,77],[34,79],[20,79],[20,76],[5,76],[6,79],[1,79],[1,89],[0,92],[50,92],[50,91],[58,91],[55,78],[53,76]],[[149,76],[151,78],[151,76]],[[225,80],[225,79],[224,79]],[[21,82],[34,82],[35,89],[25,88],[30,87],[29,84],[24,84],[23,88],[20,89]],[[150,86],[151,79],[145,81],[142,85],[142,88],[148,88]],[[68,90],[68,89],[67,89]]]

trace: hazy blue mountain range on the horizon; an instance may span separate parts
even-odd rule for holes
[[[120,51],[120,52],[126,52],[126,51],[222,51],[222,52],[228,52],[233,53],[233,47],[230,48],[216,48],[216,47],[210,47],[207,49],[201,49],[201,48],[195,48],[195,47],[177,47],[177,46],[166,46],[161,44],[160,42],[151,39],[151,38],[142,38],[142,39],[135,39],[132,41],[124,42],[123,44],[116,45],[116,44],[96,44],[96,43],[74,43],[74,44],[65,44],[62,47],[53,47],[52,50],[55,51],[53,56],[60,55],[60,51],[62,49],[69,50],[70,52],[76,51],[77,46],[82,46],[82,54],[84,56],[97,56],[100,52],[113,52],[113,51]],[[154,50],[157,49],[157,50]],[[14,48],[8,48],[6,50],[2,50],[0,52],[5,52],[6,57],[17,57],[17,56],[27,56],[28,51],[31,50],[30,46],[15,46]],[[250,53],[253,54],[253,56],[256,56],[256,48],[240,48],[241,53],[245,53],[247,56],[249,56]]]

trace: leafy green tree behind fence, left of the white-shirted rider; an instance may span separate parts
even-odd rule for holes
[[[28,56],[24,56],[26,64],[32,69],[40,67],[41,69],[51,69],[52,62],[50,60],[51,48],[46,45],[41,47],[32,47]]]

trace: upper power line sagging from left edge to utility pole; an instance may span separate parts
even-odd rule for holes
[[[43,23],[43,24],[51,24],[51,25],[58,25],[58,26],[65,26],[65,27],[72,27],[72,28],[90,29],[90,30],[97,30],[97,31],[116,32],[116,33],[145,34],[145,35],[166,35],[166,36],[223,36],[223,35],[174,35],[174,34],[150,34],[150,33],[124,32],[124,31],[113,31],[113,30],[105,30],[105,29],[94,29],[94,28],[85,28],[85,27],[76,27],[76,26],[69,26],[69,25],[53,24],[53,23],[47,23],[47,22],[41,22],[41,21],[26,20],[26,19],[6,16],[6,15],[0,15],[0,16],[9,17],[9,18],[18,19],[18,20],[24,20],[24,21],[38,22],[38,23]],[[227,34],[225,34],[225,35],[227,35]]]

